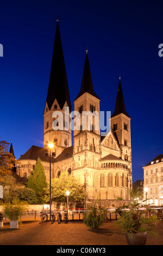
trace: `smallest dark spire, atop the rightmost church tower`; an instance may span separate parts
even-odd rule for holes
[[[111,115],[111,117],[115,117],[118,114],[125,114],[127,117],[129,117],[128,113],[126,112],[126,107],[124,105],[124,98],[123,98],[123,92],[122,92],[122,86],[121,86],[121,77],[118,85],[118,92],[117,92],[117,99],[116,99],[116,105],[114,113]],[[130,118],[130,117],[129,117]]]

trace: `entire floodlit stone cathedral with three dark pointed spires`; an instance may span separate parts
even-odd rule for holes
[[[65,109],[68,109],[68,111]],[[79,93],[74,99],[74,112],[81,115],[79,129],[70,128],[72,121],[70,93],[68,89],[64,54],[62,51],[59,21],[55,32],[51,74],[44,117],[44,146],[32,147],[18,159],[16,174],[28,179],[37,157],[43,164],[49,181],[49,157],[46,156],[48,143],[54,143],[55,156],[51,157],[51,178],[59,178],[61,172],[77,176],[86,188],[86,203],[98,198],[101,206],[118,207],[130,200],[132,187],[131,132],[130,117],[126,112],[122,93],[121,78],[118,84],[115,111],[111,115],[111,129],[106,136],[101,136],[95,126],[95,117],[91,127],[83,129],[83,112],[100,114],[100,99],[93,90],[89,57],[86,51],[84,71]],[[62,113],[62,129],[54,129],[56,113]],[[67,113],[69,112],[69,113]],[[87,119],[86,119],[87,120]],[[75,123],[74,123],[75,125]],[[99,119],[100,127],[100,119]],[[56,127],[55,127],[56,128]],[[73,142],[73,143],[72,143]],[[118,201],[117,198],[122,198]]]

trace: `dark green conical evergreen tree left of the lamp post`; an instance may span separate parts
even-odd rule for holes
[[[28,181],[26,182],[28,188],[32,188],[38,200],[38,203],[43,203],[43,188],[47,186],[46,175],[43,169],[40,158],[38,157],[37,163],[35,164],[33,172],[29,175]]]

